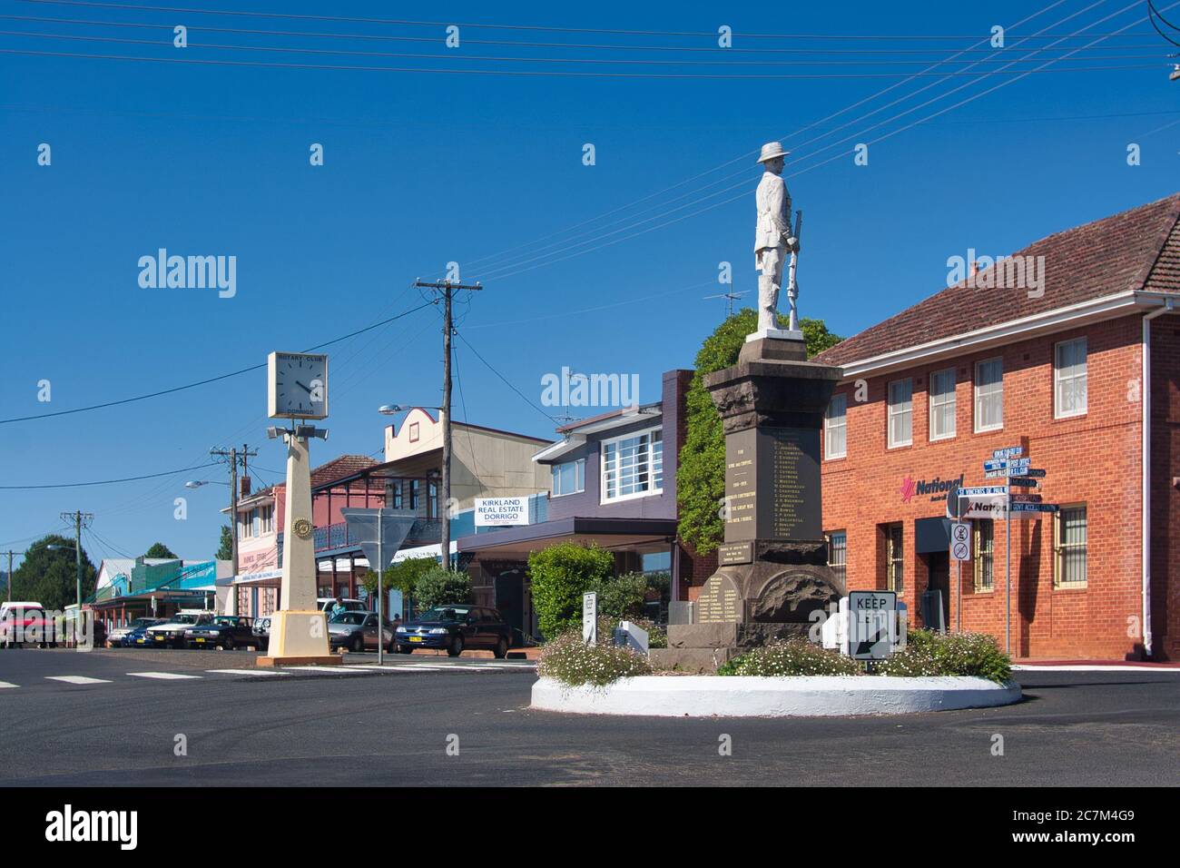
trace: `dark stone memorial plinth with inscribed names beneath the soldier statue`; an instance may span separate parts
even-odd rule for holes
[[[752,335],[753,337],[753,335]],[[653,661],[710,671],[772,639],[807,635],[811,613],[844,595],[827,566],[820,492],[824,411],[840,368],[807,361],[801,340],[748,340],[707,374],[726,435],[725,543],[695,622],[669,625]]]

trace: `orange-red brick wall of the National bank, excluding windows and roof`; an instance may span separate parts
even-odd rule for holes
[[[1161,318],[1176,319],[1176,318]],[[1141,403],[1134,383],[1140,377],[1139,316],[1112,320],[1084,328],[1029,339],[1007,347],[964,354],[952,360],[870,378],[863,402],[857,384],[841,383],[837,392],[848,396],[847,456],[825,459],[824,527],[847,533],[847,580],[851,589],[885,587],[885,537],[881,524],[900,522],[904,529],[904,590],[912,621],[920,619],[918,600],[927,586],[927,561],[914,550],[914,521],[942,516],[945,495],[914,494],[903,498],[903,483],[957,478],[965,485],[1002,484],[985,479],[982,462],[995,449],[1023,445],[1032,466],[1044,468],[1040,494],[1044,502],[1087,505],[1088,544],[1084,588],[1054,586],[1054,522],[1012,521],[1011,576],[1012,651],[1032,658],[1135,658],[1139,654],[1141,615],[1140,572],[1140,423]],[[1176,371],[1180,342],[1173,324],[1158,326],[1161,348],[1156,355],[1159,400],[1156,416],[1168,419],[1166,461],[1159,463],[1171,483],[1180,448],[1180,396]],[[1054,418],[1054,345],[1084,335],[1088,351],[1088,410],[1075,418]],[[979,360],[1002,357],[1004,366],[1004,424],[999,431],[974,432],[974,376]],[[1168,359],[1165,361],[1165,359]],[[956,435],[930,442],[930,374],[956,370]],[[913,378],[912,445],[889,448],[886,440],[886,389],[890,381]],[[1158,456],[1159,458],[1159,456]],[[1158,474],[1159,476],[1160,474]],[[1155,524],[1167,547],[1155,547],[1158,618],[1178,634],[1176,492],[1160,494]],[[1003,521],[995,522],[995,582],[991,592],[976,592],[971,564],[963,564],[962,615],[968,629],[983,631],[1004,641]],[[950,626],[958,621],[956,569],[951,562]],[[1171,602],[1171,606],[1167,603]],[[1169,639],[1175,653],[1174,640]]]

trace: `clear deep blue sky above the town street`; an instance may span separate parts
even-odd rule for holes
[[[201,8],[230,8],[197,1]],[[440,22],[394,26],[2,0],[0,15],[185,24],[194,30],[190,46],[177,50],[166,28],[0,19],[4,31],[162,43],[0,35],[0,48],[169,60],[474,68],[480,65],[450,59],[447,52],[641,59],[669,54],[491,47],[466,40],[716,45],[702,37],[463,26],[460,47],[448,50],[444,21],[661,34],[714,33],[728,25],[736,34],[848,37],[738,35],[734,47],[929,53],[841,54],[844,63],[827,66],[500,65],[828,76],[728,80],[264,68],[0,53],[6,314],[0,416],[118,400],[264,363],[271,350],[320,344],[420,304],[408,285],[417,276],[441,276],[452,260],[465,280],[486,286],[459,306],[460,331],[532,400],[540,399],[540,378],[562,366],[637,373],[643,399],[653,399],[660,373],[691,366],[701,340],[723,314],[722,301],[703,300],[725,289],[716,282],[717,263],[733,262],[735,288],[752,291],[747,300],[756,294],[750,242],[759,169],[753,154],[774,138],[795,150],[787,183],[795,208],[806,215],[801,313],[853,334],[943,287],[949,256],[965,255],[968,248],[1009,253],[1176,190],[1180,81],[1168,81],[1163,63],[1168,50],[1180,48],[1145,35],[1152,33],[1142,20],[1146,4],[1120,13],[1127,2],[1063,0],[1012,28],[1005,50],[1023,53],[1027,48],[1014,44],[1043,28],[1067,33],[1094,24],[1088,33],[1104,34],[1133,25],[1126,35],[1100,43],[1126,50],[1089,50],[1081,56],[1086,59],[1057,66],[1150,68],[1030,74],[876,141],[1012,79],[999,73],[902,83],[899,70],[925,70],[985,40],[992,25],[1010,26],[1048,6],[1048,0],[966,2],[932,13],[923,4],[517,4],[499,5],[494,14],[476,4],[392,8],[348,2],[328,12],[322,4],[257,0],[240,7]],[[1158,7],[1180,24],[1180,6]],[[437,43],[209,33],[196,30],[202,24],[425,35]],[[976,41],[962,38],[972,34]],[[874,35],[894,38],[853,38]],[[920,35],[959,38],[912,39]],[[202,43],[444,57],[229,51]],[[1041,54],[1038,61],[1054,54]],[[729,61],[733,54],[673,57]],[[745,56],[763,63],[834,57]],[[884,63],[899,59],[929,64]],[[992,60],[977,70],[996,66]],[[964,64],[939,68],[966,71]],[[832,77],[883,73],[891,77]],[[927,90],[910,96],[919,87]],[[946,96],[955,87],[962,90]],[[866,117],[898,98],[903,102]],[[935,102],[897,117],[926,99]],[[857,109],[798,132],[860,100]],[[848,126],[825,136],[841,124]],[[845,137],[851,138],[840,142]],[[853,162],[858,142],[870,143],[867,165]],[[40,143],[52,148],[50,167],[37,163]],[[323,145],[323,167],[309,165],[312,143]],[[595,146],[595,165],[583,165],[586,143]],[[1141,146],[1140,165],[1127,164],[1129,143]],[[722,180],[734,172],[745,174]],[[800,174],[789,177],[794,172]],[[689,178],[695,180],[660,194]],[[708,198],[739,183],[743,185]],[[684,204],[689,207],[674,210]],[[605,213],[610,215],[578,226]],[[564,231],[570,227],[578,228]],[[608,234],[620,228],[624,231]],[[579,241],[589,243],[577,246]],[[137,261],[160,247],[182,255],[236,256],[236,295],[140,288]],[[378,451],[386,423],[376,413],[380,404],[438,403],[439,329],[437,312],[428,308],[330,347],[332,417],[326,424],[332,436],[314,444],[316,463],[342,452]],[[553,424],[463,341],[457,364],[465,399],[465,406],[457,403],[457,418],[540,436],[552,432]],[[47,404],[38,402],[44,379],[52,384]],[[256,484],[278,481],[283,450],[266,439],[264,416],[266,379],[258,371],[123,406],[0,424],[0,484],[157,474],[206,462],[210,446],[243,442],[261,452]],[[94,514],[93,528],[105,541],[87,541],[96,561],[118,550],[142,553],[156,540],[186,557],[208,556],[227,489],[184,489],[183,482],[194,477],[225,478],[222,468],[210,468],[119,485],[0,490],[0,548],[20,549],[27,537],[59,529],[59,513],[83,509]],[[186,521],[173,518],[173,498],[181,496],[188,498]]]

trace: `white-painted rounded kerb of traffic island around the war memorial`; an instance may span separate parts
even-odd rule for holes
[[[640,676],[605,687],[532,685],[531,707],[647,717],[851,717],[990,709],[1020,701],[1016,683],[946,676]]]

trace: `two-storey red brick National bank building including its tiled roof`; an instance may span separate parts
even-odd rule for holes
[[[1007,562],[1014,657],[1180,658],[1178,217],[1180,194],[1051,235],[818,357],[844,368],[824,527],[850,588],[911,622],[942,590],[1003,646]],[[1060,510],[1012,518],[1010,560],[1003,514],[972,518],[959,575],[948,491],[1004,484],[983,462],[1009,446]]]

